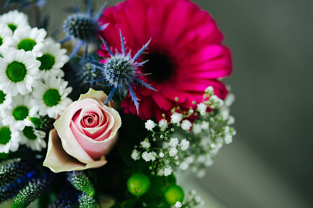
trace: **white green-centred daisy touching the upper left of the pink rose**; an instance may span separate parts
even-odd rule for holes
[[[50,79],[38,82],[38,87],[33,92],[33,97],[39,106],[39,115],[48,115],[56,119],[72,103],[68,94],[72,92],[72,87],[67,87],[68,82],[61,77],[51,77]]]

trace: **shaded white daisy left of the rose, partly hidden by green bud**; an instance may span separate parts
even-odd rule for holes
[[[47,144],[44,141],[46,133],[44,131],[36,130],[33,126],[25,126],[20,132],[21,142],[33,151],[41,151],[46,148]]]

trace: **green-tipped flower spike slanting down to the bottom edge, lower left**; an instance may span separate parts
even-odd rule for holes
[[[43,174],[38,179],[33,179],[15,196],[11,208],[24,208],[39,198],[49,187],[51,177]]]

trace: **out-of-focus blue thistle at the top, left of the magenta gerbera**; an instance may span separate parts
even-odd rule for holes
[[[69,58],[73,58],[77,52],[79,51],[80,47],[83,45],[86,46],[86,51],[88,50],[88,44],[90,40],[92,40],[97,31],[105,29],[108,24],[100,25],[98,22],[101,13],[103,12],[106,3],[101,7],[100,11],[94,15],[91,12],[91,0],[87,2],[87,12],[82,13],[78,8],[77,4],[74,2],[74,14],[70,15],[64,21],[64,32],[66,36],[60,40],[59,42],[66,42],[69,40],[76,40],[76,46],[74,47],[73,51],[70,53]]]

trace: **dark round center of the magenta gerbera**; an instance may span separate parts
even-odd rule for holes
[[[149,61],[143,65],[143,72],[151,73],[147,75],[150,79],[164,82],[174,75],[175,64],[167,54],[151,52],[146,55],[145,59]]]

